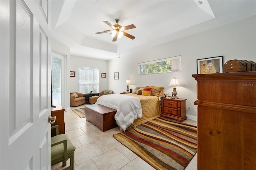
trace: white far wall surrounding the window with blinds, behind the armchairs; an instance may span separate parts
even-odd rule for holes
[[[76,71],[76,77],[70,77],[70,92],[78,92],[78,67],[98,68],[99,92],[108,90],[108,61],[71,55],[70,71]],[[101,73],[106,73],[107,77],[102,78]]]

